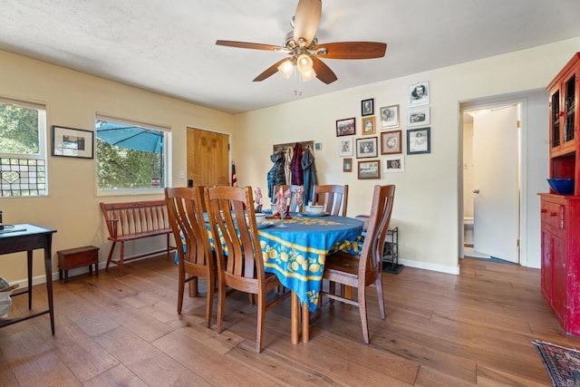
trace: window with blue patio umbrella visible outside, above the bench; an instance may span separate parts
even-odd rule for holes
[[[97,190],[163,189],[167,186],[169,129],[97,115]]]

